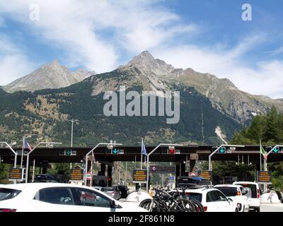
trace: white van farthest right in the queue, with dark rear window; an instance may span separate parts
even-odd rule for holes
[[[248,196],[248,203],[250,205],[250,210],[255,212],[260,212],[260,186],[256,182],[233,182],[235,185],[241,185],[246,189]]]

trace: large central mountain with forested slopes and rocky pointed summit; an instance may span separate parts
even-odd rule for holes
[[[64,66],[56,67],[67,71]],[[180,121],[166,124],[166,116],[106,116],[105,92],[117,92],[120,85],[125,85],[126,92],[135,90],[140,95],[143,91],[158,95],[167,90],[179,91]],[[30,136],[30,143],[36,143],[48,136],[64,145],[69,145],[71,137],[68,119],[79,120],[74,125],[74,145],[109,140],[137,145],[141,137],[146,145],[165,141],[223,143],[255,114],[267,112],[272,103],[279,109],[282,107],[282,100],[250,95],[238,90],[228,79],[209,73],[175,69],[161,59],[154,59],[149,52],[142,52],[114,71],[89,76],[64,88],[33,93],[2,90],[0,102],[0,140],[16,141]],[[129,102],[126,100],[126,105]]]

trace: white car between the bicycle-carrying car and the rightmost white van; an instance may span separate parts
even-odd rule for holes
[[[227,198],[232,198],[237,203],[239,212],[248,212],[250,210],[250,204],[248,203],[248,197],[244,196],[248,191],[240,185],[233,184],[219,184],[214,188],[219,189]]]

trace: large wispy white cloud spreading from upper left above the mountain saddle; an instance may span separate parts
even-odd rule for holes
[[[180,18],[166,9],[156,8],[158,1],[21,1],[0,3],[0,12],[29,26],[32,32],[65,55],[67,66],[84,66],[97,72],[110,71],[118,64],[119,46],[129,52],[141,52],[163,43],[180,32],[191,32],[193,25],[172,24]],[[40,6],[40,20],[29,20],[29,6]],[[180,29],[181,28],[181,29]],[[114,33],[109,39],[104,31]]]

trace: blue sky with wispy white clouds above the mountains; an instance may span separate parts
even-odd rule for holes
[[[148,50],[283,98],[282,9],[282,0],[0,0],[0,85],[54,59],[103,73]]]

